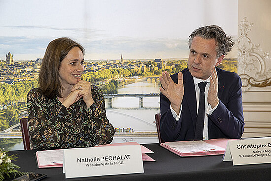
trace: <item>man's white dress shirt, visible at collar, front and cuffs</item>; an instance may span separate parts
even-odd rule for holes
[[[207,82],[206,87],[205,87],[205,112],[206,112],[206,114],[205,114],[205,118],[204,118],[203,140],[208,140],[209,139],[208,115],[213,113],[213,111],[217,108],[219,103],[213,109],[212,109],[211,105],[208,103],[208,91],[209,91],[209,87],[210,87],[210,78],[208,78],[207,80],[202,80],[202,79],[193,77],[193,79],[194,79],[195,91],[196,91],[197,114],[198,114],[199,102],[200,102],[200,88],[198,86],[198,83]],[[173,117],[176,119],[176,121],[179,121],[179,119],[181,117],[181,112],[182,112],[182,105],[180,108],[179,115],[177,115],[177,113],[172,109],[171,105],[170,105],[170,109],[171,109]]]

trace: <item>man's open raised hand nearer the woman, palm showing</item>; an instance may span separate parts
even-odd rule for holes
[[[178,74],[178,84],[173,82],[167,71],[163,72],[159,79],[163,87],[159,88],[161,93],[169,99],[171,107],[179,114],[184,94],[182,73]]]

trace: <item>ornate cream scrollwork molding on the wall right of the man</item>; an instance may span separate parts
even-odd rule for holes
[[[268,52],[263,52],[260,44],[255,45],[247,36],[253,23],[243,18],[238,24],[241,36],[238,38],[238,74],[242,79],[242,91],[251,87],[267,87],[271,85],[271,68],[266,64],[271,60]],[[269,78],[268,78],[269,77]]]

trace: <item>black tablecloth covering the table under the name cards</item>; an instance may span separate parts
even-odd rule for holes
[[[148,154],[156,162],[144,162],[144,173],[114,176],[99,176],[65,179],[62,168],[38,169],[34,150],[10,151],[17,154],[22,172],[45,173],[44,181],[271,181],[271,164],[233,166],[232,162],[223,162],[222,155],[201,157],[179,157],[159,144],[145,144],[154,153]]]

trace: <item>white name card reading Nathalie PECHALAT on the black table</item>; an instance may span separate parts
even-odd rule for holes
[[[143,173],[140,145],[64,150],[65,178]]]

